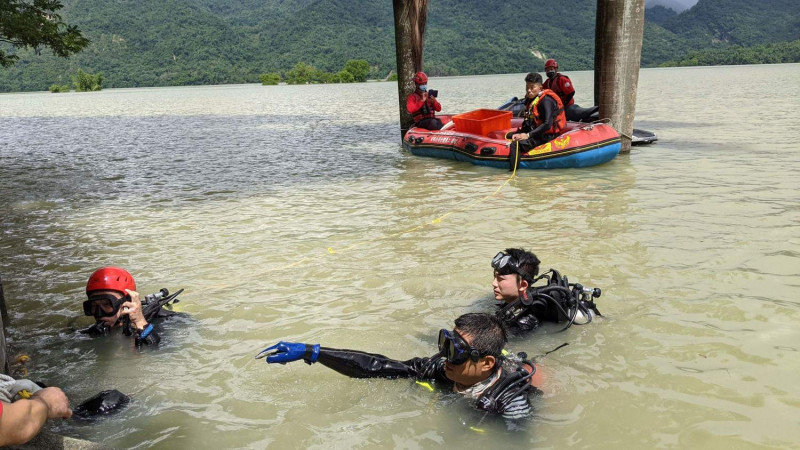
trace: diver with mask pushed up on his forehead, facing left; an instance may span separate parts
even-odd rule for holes
[[[600,315],[593,301],[600,289],[570,284],[553,269],[537,277],[539,264],[536,255],[521,248],[508,248],[492,258],[492,289],[500,302],[497,317],[513,333],[535,330],[542,322],[585,324]],[[545,285],[534,286],[543,279]]]

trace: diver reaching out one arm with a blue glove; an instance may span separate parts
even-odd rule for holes
[[[318,362],[352,378],[413,378],[434,380],[475,401],[478,409],[506,419],[531,414],[529,395],[538,390],[531,384],[536,367],[502,356],[507,341],[503,322],[486,313],[464,314],[455,328],[439,331],[439,353],[428,358],[398,361],[357,350],[339,350],[292,342],[267,347],[256,358],[285,364],[303,360]],[[538,380],[537,380],[538,381]]]

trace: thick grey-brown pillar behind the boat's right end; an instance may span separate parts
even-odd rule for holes
[[[636,88],[642,61],[645,0],[597,0],[594,39],[594,101],[631,150]]]

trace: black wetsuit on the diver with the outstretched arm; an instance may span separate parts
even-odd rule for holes
[[[321,347],[318,363],[352,378],[414,378],[435,380],[449,387],[454,382],[445,376],[445,359],[441,356],[397,361],[383,355],[357,350]],[[502,415],[506,419],[523,419],[531,414],[529,395],[536,392],[527,372],[515,371],[511,364],[498,369],[484,382],[464,393],[475,400],[478,409]]]

